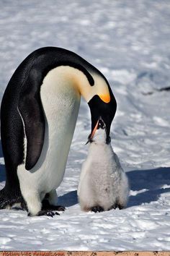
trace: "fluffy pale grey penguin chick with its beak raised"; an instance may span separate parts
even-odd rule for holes
[[[102,119],[98,120],[96,132],[89,142],[78,187],[81,210],[96,213],[125,208],[129,195],[128,177],[107,142],[107,130]]]

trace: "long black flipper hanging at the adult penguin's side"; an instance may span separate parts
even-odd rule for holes
[[[25,168],[29,171],[40,158],[44,142],[45,119],[40,95],[29,93],[20,97],[18,108],[27,139]]]

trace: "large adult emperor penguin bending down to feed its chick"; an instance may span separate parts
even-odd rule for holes
[[[81,95],[91,111],[91,135],[102,117],[107,140],[116,101],[104,75],[79,55],[45,47],[27,56],[12,75],[1,102],[1,144],[6,184],[0,209],[22,203],[29,216],[57,206]]]

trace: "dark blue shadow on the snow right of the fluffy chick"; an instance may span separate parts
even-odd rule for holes
[[[129,171],[127,175],[134,194],[129,198],[128,208],[157,201],[161,194],[170,192],[170,168]]]

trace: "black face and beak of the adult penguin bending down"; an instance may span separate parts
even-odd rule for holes
[[[88,142],[92,139],[96,129],[99,129],[99,124],[101,126],[103,125],[102,122],[99,121],[100,119],[104,121],[104,125],[105,125],[104,129],[106,130],[106,133],[107,133],[106,143],[108,144],[110,142],[110,137],[109,137],[110,126],[115,116],[117,103],[111,90],[109,90],[109,93],[110,93],[109,103],[105,103],[104,101],[102,101],[99,95],[94,95],[94,97],[91,98],[91,100],[88,103],[91,111],[91,134],[89,135]]]

